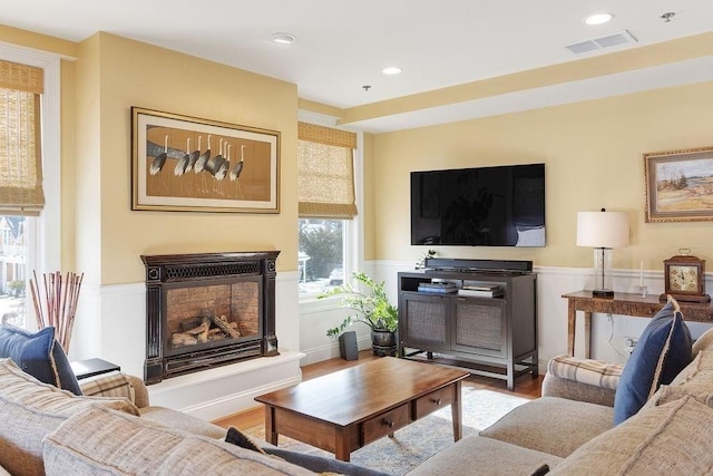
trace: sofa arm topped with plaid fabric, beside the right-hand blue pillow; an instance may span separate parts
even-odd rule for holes
[[[543,396],[613,407],[623,369],[621,363],[557,356],[547,365]]]

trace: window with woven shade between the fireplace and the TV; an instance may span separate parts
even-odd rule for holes
[[[297,147],[300,295],[307,298],[349,274],[356,135],[300,123]]]

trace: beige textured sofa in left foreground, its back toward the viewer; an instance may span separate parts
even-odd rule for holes
[[[313,474],[223,441],[226,430],[152,407],[141,380],[82,380],[77,397],[0,359],[0,474]]]

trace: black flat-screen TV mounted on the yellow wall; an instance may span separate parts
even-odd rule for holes
[[[545,246],[545,164],[411,172],[411,244]]]

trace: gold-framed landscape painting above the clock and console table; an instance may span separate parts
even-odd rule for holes
[[[645,222],[713,220],[713,147],[644,154]]]

